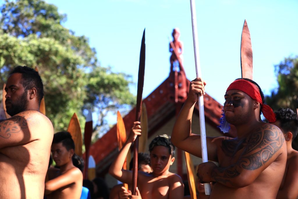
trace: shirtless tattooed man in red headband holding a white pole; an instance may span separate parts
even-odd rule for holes
[[[204,95],[206,83],[190,83],[188,98],[176,120],[172,142],[178,148],[198,157],[201,137],[191,132],[191,120],[198,95]],[[226,90],[224,114],[237,129],[237,137],[207,137],[208,159],[199,165],[201,182],[216,182],[210,199],[275,199],[285,171],[287,148],[283,133],[269,122],[275,121],[272,109],[264,104],[264,94],[252,80],[240,78]]]

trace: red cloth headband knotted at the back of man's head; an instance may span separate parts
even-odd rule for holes
[[[256,85],[254,85],[252,82],[244,79],[235,80],[232,82],[232,84],[229,85],[226,91],[229,91],[229,90],[240,90],[242,92],[245,92],[253,100],[260,102],[260,104],[262,105],[261,112],[270,123],[276,121],[275,113],[273,112],[271,107],[262,103],[262,98],[261,98],[259,88]]]

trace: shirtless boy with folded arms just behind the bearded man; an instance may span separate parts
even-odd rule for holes
[[[49,181],[45,183],[47,199],[79,199],[83,187],[83,174],[72,163],[75,152],[75,143],[69,132],[54,134],[52,143],[52,157],[60,171],[49,168]],[[55,177],[55,178],[54,178]]]

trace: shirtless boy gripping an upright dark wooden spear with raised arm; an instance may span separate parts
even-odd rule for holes
[[[109,169],[112,176],[127,184],[132,184],[132,172],[123,170],[122,165],[137,135],[141,135],[140,122],[134,122],[126,143]],[[183,198],[184,187],[181,178],[169,172],[169,167],[175,160],[175,146],[170,142],[170,138],[167,136],[154,138],[149,144],[149,152],[153,172],[150,174],[138,172],[137,187],[142,199]]]

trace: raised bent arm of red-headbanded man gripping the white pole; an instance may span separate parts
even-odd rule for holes
[[[206,85],[201,79],[191,81],[189,94],[176,119],[171,135],[171,141],[176,147],[200,158],[202,157],[201,136],[191,133],[191,122],[198,95],[205,94],[204,84]],[[208,159],[218,161],[216,142],[210,137],[207,137],[206,141]]]

